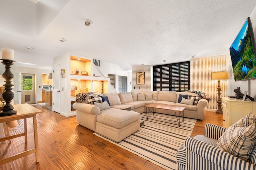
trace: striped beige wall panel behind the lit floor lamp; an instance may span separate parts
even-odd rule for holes
[[[211,99],[206,109],[218,109],[218,80],[212,80],[212,72],[226,71],[226,55],[190,60],[190,89],[205,92]],[[221,97],[226,97],[226,80],[221,80]]]

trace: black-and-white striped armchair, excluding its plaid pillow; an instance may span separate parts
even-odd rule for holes
[[[226,128],[217,125],[206,124],[204,135],[186,138],[185,144],[177,151],[177,169],[256,170],[256,166],[250,163],[256,160],[256,147],[252,152],[250,162],[216,148],[218,138],[225,130]]]

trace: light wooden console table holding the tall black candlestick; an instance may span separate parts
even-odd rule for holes
[[[34,142],[35,142],[35,148],[32,148],[30,150],[26,150],[24,152],[21,152],[19,154],[16,154],[14,156],[10,156],[8,158],[0,160],[0,165],[6,164],[8,162],[11,162],[13,160],[16,160],[18,158],[22,158],[24,156],[27,156],[32,153],[36,153],[36,162],[39,162],[39,152],[38,152],[38,137],[37,137],[37,125],[36,125],[36,114],[37,113],[42,113],[39,109],[29,105],[29,104],[19,104],[19,105],[13,105],[14,110],[17,111],[16,115],[11,115],[11,116],[4,116],[0,117],[0,123],[4,122],[9,122],[9,121],[16,121],[19,119],[24,119],[24,133],[20,134],[14,134],[10,136],[5,136],[3,138],[0,138],[1,141],[5,140],[10,140],[13,138],[17,138],[20,136],[25,136],[25,143],[28,142],[28,137],[27,137],[27,118],[33,117],[33,127],[34,127]]]

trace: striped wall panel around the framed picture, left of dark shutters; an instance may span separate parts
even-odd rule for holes
[[[145,84],[136,84],[136,73],[145,72]],[[141,67],[132,68],[132,91],[152,91],[151,81],[153,81],[152,66],[145,65]],[[152,78],[152,79],[151,79]]]

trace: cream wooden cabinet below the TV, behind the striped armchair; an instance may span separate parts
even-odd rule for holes
[[[223,127],[230,127],[248,115],[250,111],[255,115],[255,101],[242,101],[241,99],[222,97]]]

